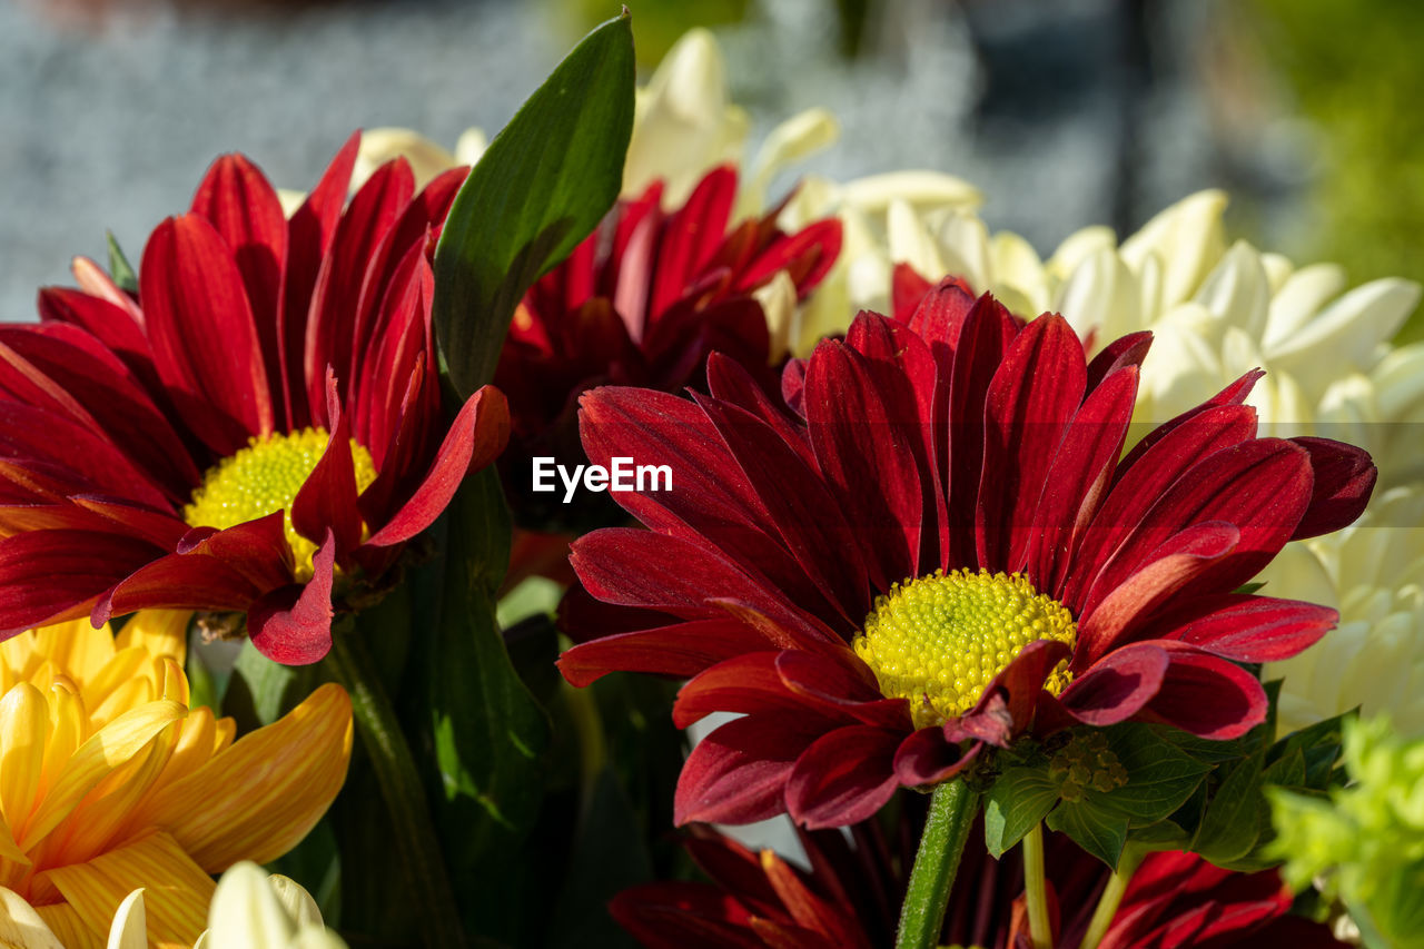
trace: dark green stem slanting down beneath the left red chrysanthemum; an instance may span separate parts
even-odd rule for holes
[[[422,940],[429,949],[464,946],[464,929],[446,876],[440,841],[396,710],[360,633],[349,626],[332,633],[326,664],[350,693],[356,728],[390,814],[389,834],[410,882]]]

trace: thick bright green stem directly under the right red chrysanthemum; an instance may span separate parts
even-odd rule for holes
[[[978,792],[964,781],[947,781],[934,789],[930,814],[914,855],[910,886],[900,909],[896,949],[928,949],[940,945],[944,908],[950,902],[960,854],[978,812]]]

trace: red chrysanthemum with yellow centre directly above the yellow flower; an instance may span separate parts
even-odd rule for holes
[[[78,259],[84,289],[0,326],[4,634],[241,611],[266,655],[312,663],[333,591],[379,581],[503,447],[498,390],[441,416],[429,255],[464,172],[417,195],[394,161],[346,205],[357,144],[290,219],[219,158],[150,237],[137,296]]]

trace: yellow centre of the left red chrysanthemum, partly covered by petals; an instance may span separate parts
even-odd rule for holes
[[[296,559],[296,576],[299,580],[310,579],[316,544],[292,527],[292,502],[322,460],[329,437],[326,429],[302,429],[248,439],[248,447],[222,459],[202,476],[192,503],[182,509],[184,520],[194,527],[221,530],[282,510],[286,541],[292,544]],[[356,439],[352,439],[352,462],[356,492],[360,493],[376,480],[376,463]]]

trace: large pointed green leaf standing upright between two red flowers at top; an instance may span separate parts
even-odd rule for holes
[[[456,195],[436,247],[434,325],[463,398],[487,383],[524,291],[618,198],[632,134],[627,13],[580,43]]]

